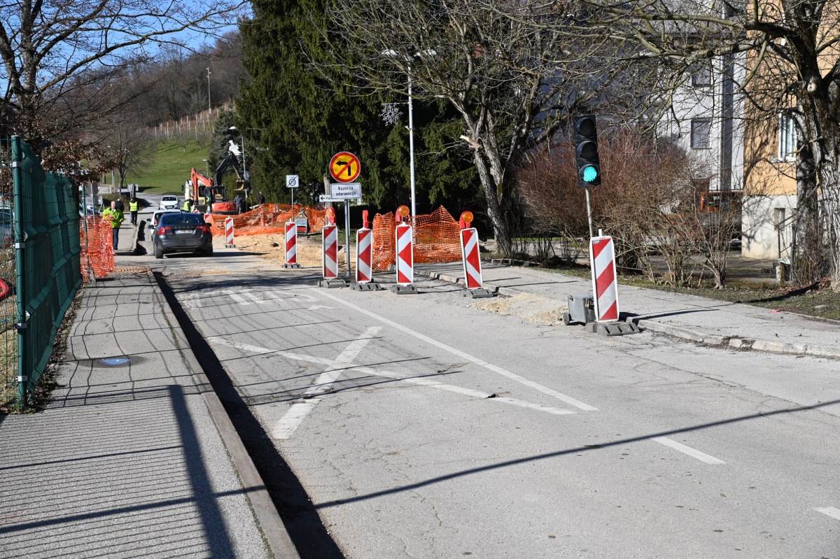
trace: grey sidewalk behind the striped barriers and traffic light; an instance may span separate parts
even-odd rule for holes
[[[535,268],[482,263],[485,286],[501,295],[530,293],[565,301],[592,290],[591,280]],[[416,274],[463,283],[462,264],[423,264]],[[840,357],[840,322],[821,321],[791,312],[756,306],[618,286],[622,316],[653,332],[710,346],[755,349],[819,357]]]

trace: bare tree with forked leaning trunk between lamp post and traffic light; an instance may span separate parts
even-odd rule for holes
[[[454,107],[505,254],[517,165],[568,126],[570,113],[595,107],[628,77],[596,55],[617,48],[604,34],[581,40],[537,29],[506,14],[517,9],[529,8],[507,0],[337,0],[323,40],[333,64],[318,65],[356,91],[405,96],[410,81],[415,97]]]

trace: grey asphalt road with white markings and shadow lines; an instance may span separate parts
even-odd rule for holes
[[[726,380],[832,361],[528,324],[441,282],[320,289],[225,254],[145,258],[311,499],[284,520],[323,520],[290,530],[302,556],[840,557],[840,418]]]

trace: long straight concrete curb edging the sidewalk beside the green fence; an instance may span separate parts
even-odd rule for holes
[[[160,290],[160,287],[156,285],[156,280],[155,287],[158,287]],[[245,449],[242,439],[239,438],[239,433],[236,432],[233,422],[230,421],[228,412],[224,409],[222,401],[218,399],[218,395],[213,390],[210,379],[207,379],[207,375],[204,374],[204,370],[198,363],[195,353],[192,352],[192,347],[187,343],[181,327],[177,326],[178,320],[169,305],[169,301],[166,300],[163,293],[160,293],[160,295],[166,302],[165,306],[163,306],[166,319],[170,321],[173,332],[178,332],[178,342],[183,344],[181,354],[184,356],[186,365],[192,369],[191,373],[196,387],[202,394],[204,403],[207,405],[207,410],[210,412],[213,423],[215,423],[218,429],[218,434],[222,437],[231,462],[234,463],[234,469],[242,482],[245,498],[248,499],[251,509],[254,511],[260,532],[265,538],[265,545],[269,548],[271,556],[276,559],[300,559],[297,548],[292,543],[291,537],[289,537],[289,533],[286,531],[286,525],[283,524],[280,513],[271,500],[268,489],[265,488],[265,482],[257,471],[248,451]]]

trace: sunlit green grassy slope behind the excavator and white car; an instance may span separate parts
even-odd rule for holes
[[[175,144],[161,142],[157,147],[155,161],[142,174],[129,173],[126,184],[138,184],[144,192],[160,194],[183,194],[184,183],[190,180],[190,171],[195,167],[204,173],[207,165],[207,144],[192,142]]]

